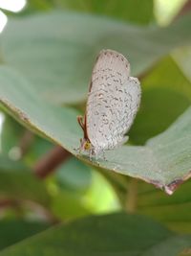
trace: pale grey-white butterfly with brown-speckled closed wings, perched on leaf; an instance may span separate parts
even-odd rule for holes
[[[140,103],[140,84],[130,77],[130,63],[113,50],[102,50],[96,58],[86,113],[77,120],[83,129],[80,151],[90,158],[115,149],[128,140]]]

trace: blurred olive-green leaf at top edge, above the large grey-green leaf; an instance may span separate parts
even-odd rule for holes
[[[154,20],[153,0],[85,0],[83,3],[78,0],[57,0],[56,6],[58,8],[104,14],[138,24],[148,24]]]

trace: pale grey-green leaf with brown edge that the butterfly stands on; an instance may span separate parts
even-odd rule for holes
[[[80,159],[90,162],[86,155],[74,149],[79,146],[82,131],[76,123],[77,112],[69,107],[49,105],[40,100],[30,84],[9,68],[0,69],[1,102],[11,114],[29,128],[51,138]],[[12,86],[14,84],[14,86]],[[164,188],[172,194],[178,185],[190,176],[191,166],[191,108],[178,121],[146,146],[123,146],[107,151],[107,161],[94,160],[92,164],[131,175]]]

